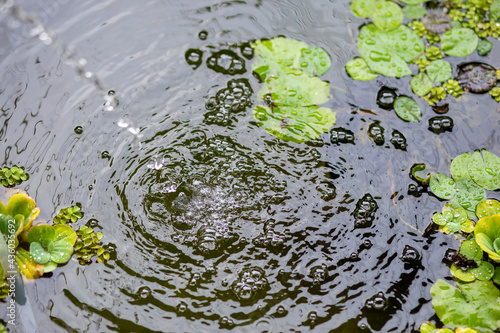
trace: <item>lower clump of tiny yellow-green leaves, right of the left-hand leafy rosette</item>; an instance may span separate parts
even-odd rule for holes
[[[93,256],[97,256],[97,262],[100,263],[109,260],[110,254],[102,247],[100,242],[103,237],[102,232],[99,231],[96,233],[90,227],[81,226],[76,234],[75,250],[80,265],[91,263]]]

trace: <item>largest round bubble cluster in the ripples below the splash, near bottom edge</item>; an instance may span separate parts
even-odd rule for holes
[[[269,287],[264,271],[259,267],[244,269],[232,289],[236,297],[242,302],[252,302],[263,296]]]

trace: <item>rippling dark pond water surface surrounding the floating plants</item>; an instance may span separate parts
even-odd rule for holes
[[[423,235],[442,203],[409,195],[409,170],[420,162],[447,172],[452,157],[477,148],[500,154],[490,96],[450,99],[454,128],[440,135],[427,129],[436,114],[423,99],[420,123],[380,109],[380,87],[412,95],[409,78],[347,76],[363,23],[348,1],[18,4],[120,99],[103,112],[102,98],[57,50],[2,17],[0,165],[26,168],[21,187],[42,219],[80,203],[79,224],[101,230],[113,256],[71,261],[26,286],[40,332],[412,332],[433,317],[429,289],[450,276],[441,260],[459,243]],[[354,143],[332,143],[335,130],[307,144],[282,142],[256,125],[252,107],[207,109],[230,80],[248,79],[258,91],[240,46],[278,35],[332,56],[326,106]],[[196,69],[188,49],[203,51]],[[209,69],[220,50],[246,60],[246,72]],[[499,59],[465,60],[500,67]],[[122,118],[140,127],[140,148],[117,126]],[[382,145],[368,135],[373,126],[384,129]],[[406,151],[390,142],[394,130]],[[148,168],[155,156],[160,170]],[[420,261],[404,260],[407,246]]]

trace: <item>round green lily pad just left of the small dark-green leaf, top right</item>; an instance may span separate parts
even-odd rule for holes
[[[465,57],[477,48],[479,37],[469,28],[448,30],[441,37],[441,50],[450,56]]]

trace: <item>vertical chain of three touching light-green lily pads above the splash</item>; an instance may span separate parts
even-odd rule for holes
[[[252,68],[264,82],[257,93],[263,105],[253,112],[257,125],[279,139],[298,143],[328,131],[335,124],[335,113],[318,104],[330,100],[330,87],[316,77],[330,67],[326,51],[282,37],[256,41],[252,47],[257,55]],[[370,75],[362,62],[351,67],[353,75]]]

